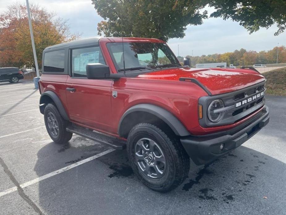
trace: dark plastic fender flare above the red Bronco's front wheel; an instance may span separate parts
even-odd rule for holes
[[[167,111],[166,109],[153,105],[153,104],[137,104],[129,108],[121,117],[119,121],[118,129],[117,129],[119,136],[121,136],[120,126],[122,125],[122,121],[124,120],[124,118],[128,114],[132,112],[136,112],[136,111],[147,112],[147,113],[151,113],[157,116],[158,118],[163,120],[167,125],[169,125],[169,127],[173,130],[173,132],[177,136],[190,135],[190,133],[187,131],[186,127],[181,123],[181,121],[178,120],[176,116],[174,116],[171,112]]]

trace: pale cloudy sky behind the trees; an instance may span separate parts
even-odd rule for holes
[[[0,0],[0,12],[4,11],[12,2],[23,2],[16,0]],[[70,31],[82,33],[82,38],[97,35],[97,23],[103,20],[97,15],[91,4],[91,0],[37,0],[40,6],[48,11],[53,11],[58,16],[69,19]],[[207,8],[212,11],[211,8]],[[186,36],[183,39],[170,39],[168,44],[181,56],[186,55],[208,55],[224,53],[236,49],[246,50],[270,50],[274,46],[286,46],[286,32],[274,36],[276,26],[269,29],[260,29],[258,32],[249,34],[237,22],[223,20],[221,18],[210,18],[204,20],[199,26],[188,26]]]

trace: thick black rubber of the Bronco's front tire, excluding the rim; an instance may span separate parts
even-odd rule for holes
[[[139,141],[144,140],[144,138],[146,138],[147,140],[153,140],[156,144],[156,148],[159,147],[159,150],[162,151],[162,155],[164,154],[165,166],[162,170],[163,174],[161,178],[151,178],[150,174],[147,174],[146,171],[144,172],[144,170],[142,170],[142,166],[144,166],[145,162],[138,162],[138,160],[136,160],[138,159],[139,153],[136,152],[136,150],[138,149]],[[146,161],[149,161],[147,152],[143,151],[144,150],[142,150],[142,152],[140,153],[146,153],[147,159],[146,157],[144,159]],[[165,132],[157,126],[149,123],[140,123],[138,125],[135,125],[130,130],[130,133],[127,138],[127,154],[135,175],[146,186],[155,191],[168,192],[175,189],[186,179],[190,171],[190,157],[187,155],[185,149],[182,147],[180,140],[177,138],[177,136],[173,134],[172,131]]]

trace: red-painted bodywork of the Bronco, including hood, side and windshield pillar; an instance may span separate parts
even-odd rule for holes
[[[123,40],[163,42],[146,38]],[[111,73],[116,73],[106,47],[109,42],[122,42],[122,38],[99,40],[106,64]],[[180,77],[196,78],[211,94],[232,92],[265,80],[259,73],[246,69],[172,68],[149,72],[135,78],[120,78],[117,81],[43,74],[40,87],[41,92],[52,90],[59,96],[72,122],[115,136],[118,136],[118,123],[124,112],[140,103],[150,103],[168,110],[194,135],[231,129],[260,111],[232,125],[203,128],[198,123],[198,99],[207,93],[194,83],[179,81]],[[66,91],[66,87],[73,87],[76,91]],[[112,97],[113,90],[117,91],[116,99]]]

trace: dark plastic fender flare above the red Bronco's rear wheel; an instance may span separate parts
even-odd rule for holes
[[[55,94],[53,91],[46,91],[45,93],[41,94],[41,97],[40,97],[40,112],[42,114],[44,114],[44,109],[45,109],[45,102],[44,102],[44,98],[48,96],[49,98],[51,98],[53,100],[53,102],[56,104],[62,118],[64,118],[65,120],[70,120],[67,113],[66,113],[66,110],[64,108],[64,106],[62,105],[62,102],[60,100],[60,98],[58,97],[57,94]]]

